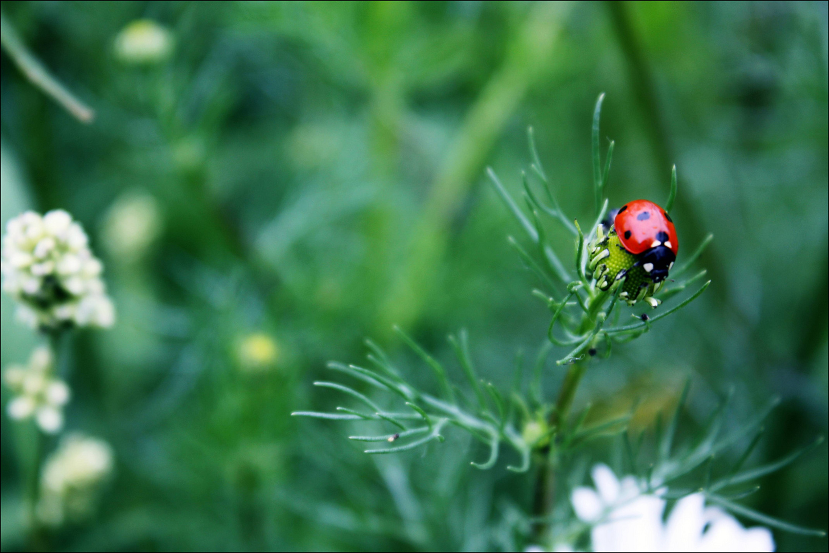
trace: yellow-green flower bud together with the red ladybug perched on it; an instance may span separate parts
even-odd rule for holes
[[[605,235],[605,232],[607,234]],[[644,300],[657,307],[653,294],[665,284],[679,241],[671,216],[652,201],[630,201],[611,212],[589,245],[589,270],[599,289],[623,289],[619,298],[633,305]]]

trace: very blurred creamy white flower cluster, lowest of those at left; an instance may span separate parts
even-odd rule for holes
[[[43,465],[37,517],[49,526],[60,526],[67,519],[89,515],[95,492],[112,472],[112,465],[112,449],[103,440],[82,434],[61,439]]]

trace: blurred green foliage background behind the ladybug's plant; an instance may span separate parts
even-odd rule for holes
[[[532,125],[560,203],[589,220],[602,91],[611,205],[664,201],[676,163],[680,257],[713,232],[700,263],[713,283],[591,369],[577,403],[642,400],[647,425],[690,376],[689,435],[729,388],[735,425],[783,398],[753,462],[827,433],[826,2],[2,9],[97,112],[81,124],[3,54],[2,223],[70,211],[119,311],[114,330],[76,334],[65,367],[67,427],[108,440],[116,472],[56,549],[513,547],[531,478],[510,459],[474,471],[482,447],[451,433],[425,455],[369,458],[342,426],[288,415],[332,407],[310,384],[326,361],[360,361],[364,337],[428,382],[392,323],[441,359],[467,327],[482,372],[506,385],[549,313],[484,169],[517,194]],[[116,51],[139,18],[168,30],[168,56]],[[550,234],[569,259],[569,235]],[[12,311],[3,298],[3,366],[36,342]],[[551,395],[562,372],[546,371]],[[13,441],[3,410],[6,551],[24,543]],[[826,527],[826,444],[762,484],[753,507]],[[775,539],[827,551],[826,538]]]

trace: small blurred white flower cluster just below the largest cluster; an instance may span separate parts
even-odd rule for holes
[[[53,375],[55,357],[46,346],[36,347],[27,366],[12,365],[3,371],[3,381],[15,397],[8,402],[14,420],[35,417],[37,425],[54,434],[63,428],[63,406],[69,401],[69,386]]]

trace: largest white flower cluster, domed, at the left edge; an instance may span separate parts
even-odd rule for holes
[[[2,238],[2,289],[17,299],[31,327],[111,327],[115,309],[81,226],[63,210],[27,211],[8,221]]]

